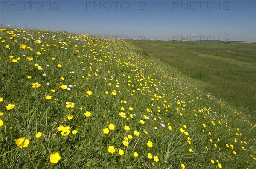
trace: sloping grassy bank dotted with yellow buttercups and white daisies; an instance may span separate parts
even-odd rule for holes
[[[1,168],[254,169],[250,117],[153,52],[115,39],[0,28]]]

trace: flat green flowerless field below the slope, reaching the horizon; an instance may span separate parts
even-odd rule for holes
[[[256,43],[130,42],[256,122]]]

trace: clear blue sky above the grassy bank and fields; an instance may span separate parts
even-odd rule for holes
[[[256,1],[0,0],[0,24],[122,39],[255,42]]]

